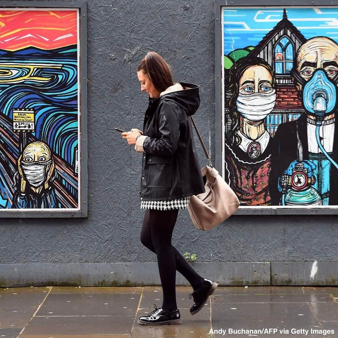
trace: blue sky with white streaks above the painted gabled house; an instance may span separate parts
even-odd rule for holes
[[[289,21],[309,39],[327,36],[338,42],[338,8],[286,8]],[[256,46],[279,21],[283,8],[223,8],[224,54]]]

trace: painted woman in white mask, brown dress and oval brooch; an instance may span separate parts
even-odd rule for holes
[[[270,205],[272,138],[265,118],[276,102],[273,71],[260,58],[242,58],[226,83],[231,126],[225,139],[225,179],[241,205]]]

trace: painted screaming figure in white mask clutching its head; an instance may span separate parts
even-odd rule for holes
[[[18,159],[19,186],[12,208],[58,208],[53,187],[55,165],[51,150],[44,142],[28,144]]]

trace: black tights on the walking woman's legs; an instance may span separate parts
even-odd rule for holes
[[[203,278],[189,265],[185,258],[171,245],[178,209],[147,209],[141,230],[141,242],[156,253],[163,290],[162,309],[174,311],[176,304],[176,269],[197,290]]]

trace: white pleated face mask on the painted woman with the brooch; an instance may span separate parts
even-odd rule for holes
[[[276,103],[276,90],[271,93],[254,93],[250,96],[238,94],[237,111],[250,121],[264,120],[273,110]]]

